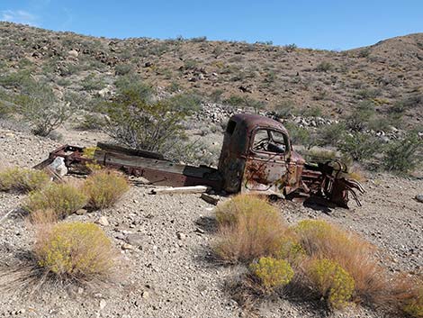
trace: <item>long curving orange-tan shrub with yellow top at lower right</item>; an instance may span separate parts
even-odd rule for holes
[[[293,227],[310,258],[331,259],[354,278],[356,295],[368,304],[380,301],[387,288],[374,247],[351,232],[322,220],[304,220]]]

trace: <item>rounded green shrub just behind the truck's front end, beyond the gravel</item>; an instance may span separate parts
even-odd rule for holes
[[[338,149],[360,162],[372,159],[374,154],[380,150],[380,141],[374,136],[362,132],[346,134]]]

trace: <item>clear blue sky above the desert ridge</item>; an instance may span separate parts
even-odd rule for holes
[[[207,36],[347,50],[423,32],[423,0],[1,0],[0,20],[109,38]]]

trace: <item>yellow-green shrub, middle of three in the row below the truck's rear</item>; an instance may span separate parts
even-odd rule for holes
[[[67,183],[51,184],[31,192],[23,207],[30,213],[53,210],[58,218],[64,218],[83,208],[87,199],[78,186]]]

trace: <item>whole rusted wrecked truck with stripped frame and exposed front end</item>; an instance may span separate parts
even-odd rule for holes
[[[218,168],[193,167],[166,160],[161,154],[98,143],[94,158],[84,148],[64,145],[35,168],[45,168],[57,157],[65,159],[70,172],[88,162],[121,169],[125,173],[165,186],[211,186],[227,194],[254,193],[289,197],[318,197],[347,207],[349,195],[363,187],[347,178],[339,161],[308,163],[293,150],[283,123],[257,114],[233,115],[224,132]]]

